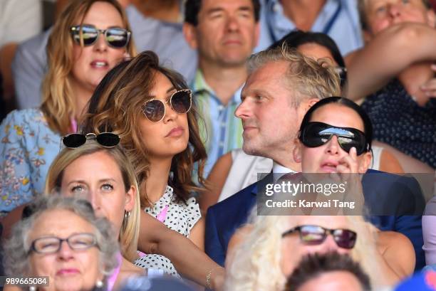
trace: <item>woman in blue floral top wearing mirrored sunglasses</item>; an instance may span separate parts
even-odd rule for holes
[[[41,194],[61,136],[78,120],[103,76],[135,55],[116,0],[74,0],[53,26],[41,107],[11,112],[0,126],[1,216]]]

